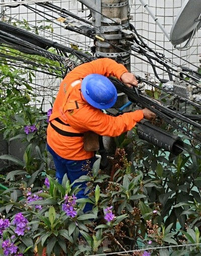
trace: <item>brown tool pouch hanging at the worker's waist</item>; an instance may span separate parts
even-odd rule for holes
[[[96,151],[99,149],[98,134],[92,131],[84,132],[84,149]]]

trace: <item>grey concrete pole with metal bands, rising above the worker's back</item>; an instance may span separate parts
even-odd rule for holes
[[[126,43],[128,36],[123,31],[129,27],[128,0],[101,0],[100,37],[105,41],[95,41],[96,57],[107,57],[121,62],[130,70],[131,45]],[[129,35],[130,36],[130,35]],[[117,45],[120,48],[113,47]]]

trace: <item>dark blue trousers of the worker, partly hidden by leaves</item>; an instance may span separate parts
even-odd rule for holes
[[[47,144],[47,149],[51,153],[53,157],[53,161],[56,167],[56,178],[58,182],[61,184],[63,176],[66,174],[70,183],[73,183],[76,179],[81,177],[82,175],[87,175],[88,171],[86,170],[86,166],[88,166],[90,170],[92,169],[93,163],[95,162],[95,157],[86,159],[86,160],[68,160],[62,158],[57,155],[57,153]],[[81,188],[80,191],[76,194],[78,198],[87,198],[87,194],[85,194],[86,183],[85,182],[77,182],[72,185],[72,187],[79,186]],[[92,205],[90,203],[86,203],[84,212],[90,211]]]

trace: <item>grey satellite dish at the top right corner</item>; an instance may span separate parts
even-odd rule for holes
[[[194,36],[201,27],[201,0],[186,0],[170,31],[170,42],[180,44]]]

